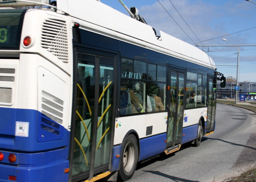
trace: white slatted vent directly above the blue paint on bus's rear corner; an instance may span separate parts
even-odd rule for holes
[[[62,124],[64,102],[42,90],[42,114]]]

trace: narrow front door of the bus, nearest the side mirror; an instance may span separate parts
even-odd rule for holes
[[[216,78],[208,76],[208,114],[206,133],[214,130],[215,109],[216,109]]]

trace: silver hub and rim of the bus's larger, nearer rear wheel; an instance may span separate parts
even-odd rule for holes
[[[130,172],[135,158],[135,150],[132,142],[127,143],[123,155],[123,165],[126,172]]]

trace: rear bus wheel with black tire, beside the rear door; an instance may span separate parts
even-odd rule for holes
[[[120,157],[118,180],[126,181],[133,176],[138,162],[138,143],[133,134],[125,139]]]

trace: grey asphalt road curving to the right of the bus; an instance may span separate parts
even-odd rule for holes
[[[216,129],[199,147],[138,164],[129,182],[219,182],[256,163],[256,114],[217,104]]]

